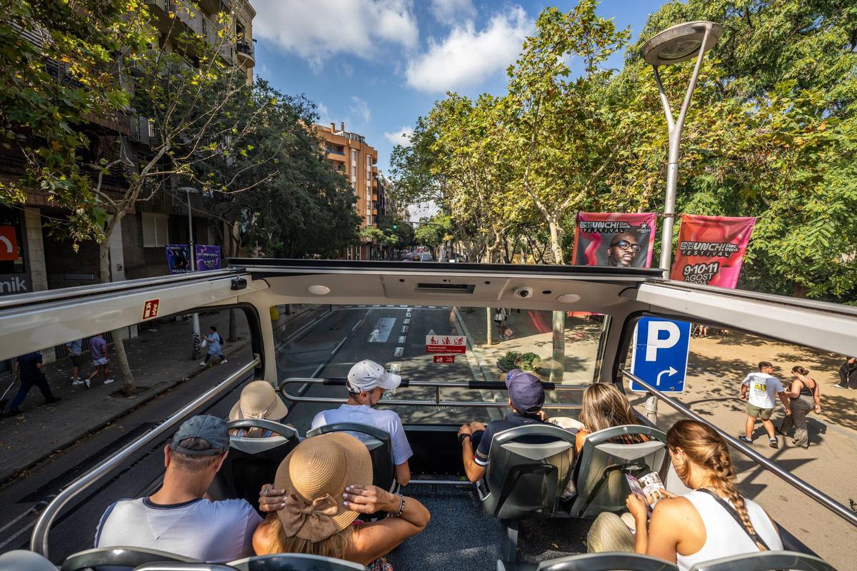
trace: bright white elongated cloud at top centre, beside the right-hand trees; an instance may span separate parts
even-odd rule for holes
[[[440,43],[429,39],[428,51],[408,62],[407,84],[424,92],[476,85],[515,61],[533,27],[520,6],[494,15],[482,31],[466,21]]]

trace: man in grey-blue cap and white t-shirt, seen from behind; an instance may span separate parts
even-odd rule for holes
[[[195,416],[164,449],[164,484],[152,496],[113,503],[95,547],[143,547],[207,562],[253,555],[261,517],[243,499],[213,502],[206,491],[229,452],[224,419]]]

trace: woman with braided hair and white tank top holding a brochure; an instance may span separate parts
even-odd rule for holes
[[[686,571],[720,557],[782,550],[774,521],[738,492],[726,442],[714,429],[680,420],[667,432],[667,444],[675,472],[693,491],[684,496],[666,492],[650,516],[645,500],[631,494],[626,499],[631,517],[621,520],[605,512],[596,518],[588,537],[590,551],[642,553],[676,562]]]

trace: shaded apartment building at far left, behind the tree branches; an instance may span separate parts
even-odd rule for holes
[[[237,63],[253,78],[255,66],[253,18],[255,10],[248,0],[201,0],[199,9],[191,12],[177,9],[171,0],[144,0],[161,32],[161,45],[171,46],[171,34],[190,29],[200,33],[212,45],[220,45],[218,32],[222,26],[234,26],[236,39],[221,45],[220,56]],[[219,24],[220,12],[233,15]],[[172,14],[172,16],[171,16]],[[29,41],[39,44],[33,33],[22,33]],[[62,62],[45,60],[45,68],[59,81],[75,84],[76,80]],[[133,70],[132,70],[133,73]],[[79,127],[92,141],[92,152],[112,144],[121,136],[132,149],[145,150],[157,134],[145,117],[126,114],[88,117]],[[21,140],[26,140],[21,134]],[[0,150],[0,182],[17,181],[26,175],[27,163],[20,152]],[[102,188],[119,199],[127,189],[127,173],[122,166],[103,176]],[[111,236],[111,274],[114,280],[165,275],[169,269],[165,259],[165,244],[216,244],[215,233],[206,214],[205,199],[196,194],[178,192],[173,188],[161,190],[147,202],[135,206],[124,217]],[[189,240],[188,199],[193,210],[193,239]],[[99,246],[84,241],[75,251],[71,241],[58,238],[48,228],[51,220],[68,216],[51,203],[49,195],[39,189],[27,190],[22,207],[0,205],[0,296],[67,288],[93,283],[99,278]]]

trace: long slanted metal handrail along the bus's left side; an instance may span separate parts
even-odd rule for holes
[[[195,413],[198,408],[207,405],[221,394],[231,390],[235,384],[246,377],[249,372],[252,372],[255,367],[259,365],[261,365],[261,359],[257,354],[254,356],[254,360],[250,361],[249,364],[243,366],[237,372],[232,373],[229,377],[215,385],[212,389],[207,390],[207,392],[203,393],[201,396],[190,401],[189,404],[182,407],[170,418],[166,419],[143,436],[137,438],[134,442],[129,443],[128,446],[119,450],[115,455],[112,455],[106,461],[100,463],[98,466],[72,482],[63,491],[59,492],[57,497],[48,504],[45,511],[43,511],[39,516],[36,526],[33,527],[33,535],[30,538],[30,548],[36,553],[39,553],[39,555],[50,559],[48,556],[48,538],[51,532],[51,526],[53,525],[54,520],[57,519],[57,515],[60,514],[60,511],[62,511],[67,504],[74,500],[75,497],[78,497],[82,491],[87,490],[88,487],[99,482],[100,479],[103,479],[111,472],[111,470],[119,467],[130,455],[135,454],[141,448],[152,443],[159,442],[166,432],[171,431],[174,426],[183,422],[184,419],[189,417],[192,413]]]

